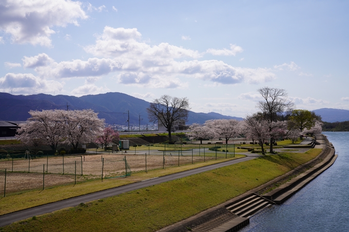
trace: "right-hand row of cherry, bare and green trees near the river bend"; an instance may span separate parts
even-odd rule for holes
[[[234,119],[208,120],[203,125],[192,124],[188,136],[200,140],[229,138],[237,135],[258,141],[264,154],[263,144],[269,141],[270,153],[274,153],[276,138],[297,140],[302,134],[321,133],[321,117],[307,110],[293,110],[294,103],[287,100],[285,90],[264,87],[258,90],[263,97],[257,107],[260,112],[247,115],[244,121]]]

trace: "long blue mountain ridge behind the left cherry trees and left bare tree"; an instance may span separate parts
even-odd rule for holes
[[[0,120],[25,121],[30,115],[30,110],[83,110],[92,109],[104,118],[107,124],[127,125],[128,112],[130,125],[150,124],[146,108],[149,102],[123,93],[105,93],[97,95],[85,95],[81,97],[68,95],[11,95],[0,93]],[[239,117],[225,116],[218,113],[195,113],[189,111],[187,124],[204,123],[209,119],[237,119]],[[152,124],[152,123],[151,123]]]

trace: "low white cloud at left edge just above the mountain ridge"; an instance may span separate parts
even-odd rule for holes
[[[61,91],[63,85],[53,80],[45,80],[31,73],[7,73],[0,78],[0,90],[6,92],[13,90],[14,93],[41,93],[50,91]]]

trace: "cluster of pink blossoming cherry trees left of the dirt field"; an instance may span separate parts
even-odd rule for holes
[[[104,128],[104,119],[92,110],[30,111],[27,123],[20,124],[17,139],[30,146],[49,145],[53,151],[59,144],[71,144],[74,150],[88,142],[105,144],[119,134]]]

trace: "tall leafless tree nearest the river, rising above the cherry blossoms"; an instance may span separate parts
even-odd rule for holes
[[[257,107],[262,111],[264,118],[271,122],[277,120],[278,114],[282,114],[286,110],[294,107],[292,101],[287,100],[287,92],[283,89],[264,87],[258,90],[264,98],[264,101],[259,101]],[[272,128],[269,126],[269,132]],[[270,153],[274,153],[273,144],[274,137],[270,137]]]

